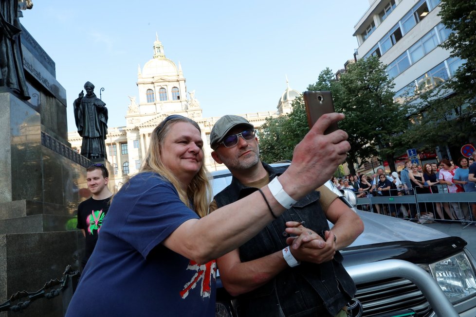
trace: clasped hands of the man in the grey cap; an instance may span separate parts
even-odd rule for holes
[[[336,251],[334,233],[324,231],[323,239],[318,233],[308,229],[298,222],[286,222],[286,232],[292,237],[286,239],[286,243],[291,246],[291,253],[297,261],[324,263],[332,260]]]

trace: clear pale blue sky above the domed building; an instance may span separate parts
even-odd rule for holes
[[[156,32],[204,117],[268,111],[286,74],[304,91],[326,67],[343,68],[368,7],[368,0],[36,0],[20,21],[56,63],[74,131],[72,104],[86,81],[98,97],[105,88],[108,125],[126,125],[128,96],[139,100],[137,67],[152,58]]]

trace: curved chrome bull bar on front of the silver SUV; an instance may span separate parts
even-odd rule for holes
[[[356,284],[402,277],[413,282],[439,317],[459,317],[438,283],[420,266],[403,260],[383,260],[346,267]]]

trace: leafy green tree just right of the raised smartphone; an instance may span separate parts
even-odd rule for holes
[[[349,64],[334,84],[334,105],[346,115],[340,127],[349,135],[351,150],[348,165],[379,156],[395,171],[394,157],[399,154],[398,136],[406,129],[405,110],[393,100],[394,83],[378,57],[360,59]]]

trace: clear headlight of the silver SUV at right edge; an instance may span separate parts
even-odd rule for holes
[[[453,303],[476,293],[476,274],[464,252],[430,264],[433,277]]]

